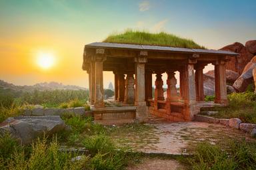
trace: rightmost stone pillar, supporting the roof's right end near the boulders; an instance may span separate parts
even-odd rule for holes
[[[225,62],[215,63],[215,103],[227,104]]]

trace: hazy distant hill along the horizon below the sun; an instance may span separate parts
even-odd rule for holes
[[[59,82],[42,82],[37,83],[33,86],[15,86],[14,84],[5,82],[3,80],[0,80],[0,89],[2,90],[13,90],[13,91],[23,91],[23,92],[29,92],[33,90],[87,90],[87,88],[83,88],[80,86],[74,86],[74,85],[64,85]]]

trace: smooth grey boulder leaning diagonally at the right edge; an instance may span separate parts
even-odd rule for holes
[[[233,87],[239,92],[245,92],[247,86],[253,82],[253,69],[256,67],[256,56],[245,66],[242,74],[235,80]]]

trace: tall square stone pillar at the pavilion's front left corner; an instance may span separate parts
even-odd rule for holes
[[[95,108],[104,107],[103,56],[95,56]]]

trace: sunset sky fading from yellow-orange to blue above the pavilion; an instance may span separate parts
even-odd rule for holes
[[[256,39],[255,9],[255,0],[0,0],[0,79],[88,87],[85,44],[127,28],[165,31],[213,49],[244,44]],[[104,86],[110,81],[113,74],[105,73]]]

